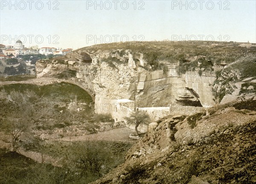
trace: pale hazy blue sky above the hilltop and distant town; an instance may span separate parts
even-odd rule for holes
[[[126,40],[256,43],[256,1],[0,0],[0,35],[4,45],[20,37],[26,47],[63,49]]]

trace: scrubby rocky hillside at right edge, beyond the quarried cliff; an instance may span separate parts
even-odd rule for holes
[[[256,100],[256,56],[241,58],[218,71],[212,91],[220,103]]]

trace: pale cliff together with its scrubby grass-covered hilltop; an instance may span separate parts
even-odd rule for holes
[[[219,44],[202,47],[194,43],[116,43],[85,47],[65,57],[39,60],[36,72],[38,78],[64,78],[84,86],[95,96],[95,109],[98,113],[113,114],[116,100],[128,99],[134,101],[133,106],[170,106],[172,114],[189,115],[189,108],[184,110],[182,107],[213,106],[218,101],[216,99],[220,98],[219,95],[222,95],[218,86],[214,86],[217,95],[214,97],[212,93],[216,80],[216,70],[213,68],[221,66],[222,58],[215,61],[217,56],[191,53],[191,46],[194,50],[198,49],[198,52],[210,48],[214,55],[230,60],[229,52],[218,53],[222,47]],[[251,52],[251,48],[239,47],[238,50],[241,52],[236,52],[237,58]],[[177,68],[179,63],[182,63],[182,67]],[[132,109],[131,104],[122,105]],[[122,121],[122,118],[115,118],[115,121]]]

